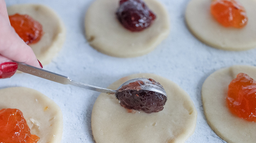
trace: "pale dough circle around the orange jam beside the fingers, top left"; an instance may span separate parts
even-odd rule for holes
[[[59,16],[50,8],[37,4],[13,5],[7,8],[8,15],[28,14],[43,26],[44,35],[35,44],[29,44],[42,65],[51,62],[62,48],[66,29]]]

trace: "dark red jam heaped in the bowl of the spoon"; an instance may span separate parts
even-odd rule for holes
[[[148,80],[150,84],[162,87],[155,80]],[[144,84],[143,81],[138,80],[118,89],[116,98],[120,101],[120,105],[127,109],[142,110],[146,113],[163,110],[167,97],[155,91],[143,90],[141,86]]]

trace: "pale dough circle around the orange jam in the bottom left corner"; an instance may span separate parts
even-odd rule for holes
[[[42,93],[26,87],[0,89],[0,109],[21,110],[31,134],[40,137],[37,143],[59,143],[63,119],[59,106]]]

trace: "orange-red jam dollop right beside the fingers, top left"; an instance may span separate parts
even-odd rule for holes
[[[43,36],[43,26],[31,16],[18,13],[9,16],[11,26],[27,44],[38,42]]]

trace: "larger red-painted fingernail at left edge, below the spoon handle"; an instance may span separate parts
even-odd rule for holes
[[[0,64],[0,79],[10,78],[18,68],[15,62],[4,62]]]

